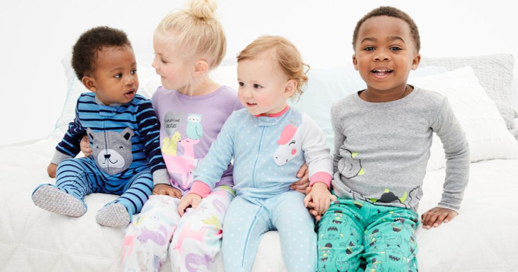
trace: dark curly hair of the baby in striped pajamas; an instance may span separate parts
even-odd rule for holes
[[[76,41],[72,50],[72,67],[77,78],[92,74],[96,69],[97,54],[103,48],[131,47],[126,33],[108,26],[97,26],[85,31]]]

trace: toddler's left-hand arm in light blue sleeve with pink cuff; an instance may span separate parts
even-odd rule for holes
[[[235,113],[235,112],[234,112]],[[185,209],[196,208],[202,198],[207,197],[215,184],[220,181],[234,155],[235,114],[225,121],[215,141],[212,142],[205,158],[200,160],[193,173],[193,185],[189,194],[182,197],[178,212],[183,216]]]

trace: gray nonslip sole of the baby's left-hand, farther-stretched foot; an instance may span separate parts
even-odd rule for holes
[[[50,185],[38,188],[32,198],[36,206],[65,216],[80,217],[87,212],[79,199]]]

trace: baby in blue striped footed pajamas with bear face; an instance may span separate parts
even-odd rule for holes
[[[117,194],[96,220],[125,226],[151,195],[153,181],[169,180],[160,152],[160,124],[151,101],[136,94],[137,64],[124,32],[100,26],[83,33],[74,46],[72,66],[92,93],[81,94],[76,118],[56,146],[47,169],[56,184],[39,185],[32,198],[42,209],[79,217],[87,211],[85,195]],[[93,155],[73,159],[84,135]]]

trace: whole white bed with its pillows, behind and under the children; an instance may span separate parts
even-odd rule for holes
[[[500,57],[492,56],[490,60],[497,59],[495,65],[502,66],[498,59]],[[518,209],[515,205],[518,192],[518,144],[512,136],[515,133],[513,126],[508,125],[506,128],[506,122],[502,119],[501,114],[505,113],[505,108],[498,106],[509,99],[506,97],[511,92],[511,82],[502,87],[508,88],[505,91],[502,88],[489,90],[485,86],[481,89],[484,80],[498,81],[500,84],[502,79],[481,78],[484,75],[477,74],[480,58],[475,59],[477,61],[473,63],[462,60],[468,61],[467,65],[471,65],[472,69],[456,69],[458,67],[453,66],[461,64],[449,67],[447,62],[451,59],[436,59],[427,64],[430,66],[428,69],[423,68],[422,74],[416,73],[410,80],[416,85],[429,86],[430,89],[447,93],[468,136],[473,161],[459,216],[432,230],[419,227],[418,260],[421,271],[518,270]],[[503,59],[508,61],[509,56]],[[512,56],[510,59],[512,81]],[[487,64],[482,64],[482,67],[488,68]],[[222,67],[214,76],[220,82],[234,84],[231,81],[234,69],[233,66]],[[70,71],[66,65],[65,70]],[[139,70],[142,71],[141,91],[149,95],[153,89],[150,86],[156,84],[156,79],[152,77],[152,71],[148,70],[146,74],[145,70]],[[355,74],[350,67],[315,70],[310,74],[312,81],[299,108],[310,112],[328,135],[328,104],[342,97],[344,89],[357,90],[357,84],[361,82]],[[475,75],[478,80],[474,78]],[[68,78],[70,88],[67,90],[67,103],[70,103],[75,101],[74,95],[80,92],[75,89],[80,88],[80,84],[74,82],[73,76]],[[340,80],[330,82],[332,80],[329,79],[333,78]],[[452,89],[452,85],[456,87]],[[483,95],[480,92],[466,95],[465,92],[475,89],[482,90]],[[498,100],[498,97],[491,97],[491,91],[498,95],[501,92],[508,93]],[[317,93],[318,97],[315,96]],[[80,218],[47,212],[37,208],[31,200],[36,185],[54,182],[47,177],[46,167],[66,127],[64,125],[71,120],[70,114],[70,107],[66,104],[55,131],[47,139],[0,148],[0,271],[120,270],[123,228],[102,227],[95,221],[95,212],[116,196],[86,196],[85,202],[89,209]],[[511,118],[511,122],[514,122],[512,125],[516,125],[517,120],[514,116]],[[444,161],[441,157],[440,142],[435,139],[423,184],[420,213],[439,202],[444,179]],[[223,271],[221,257],[217,257],[212,268],[214,271]],[[253,271],[285,270],[277,232],[268,232],[263,236]],[[169,261],[163,271],[170,271]]]

